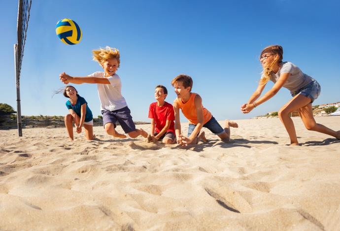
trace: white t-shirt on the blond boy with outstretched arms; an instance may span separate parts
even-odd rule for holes
[[[97,71],[89,77],[105,78],[104,72]],[[126,107],[126,101],[122,96],[122,83],[117,74],[107,77],[110,84],[97,84],[98,95],[101,101],[101,110],[118,110]]]

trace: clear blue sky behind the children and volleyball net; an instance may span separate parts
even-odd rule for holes
[[[0,102],[15,109],[17,7],[16,0],[1,1]],[[287,89],[250,114],[239,110],[258,84],[261,50],[273,44],[282,45],[284,61],[321,84],[314,104],[339,101],[339,9],[339,0],[32,0],[20,81],[22,115],[65,115],[67,99],[51,98],[63,86],[59,73],[101,71],[91,51],[106,45],[121,52],[117,74],[135,121],[149,121],[158,84],[168,88],[172,103],[170,81],[180,73],[192,76],[193,92],[217,120],[277,111],[291,98]],[[55,25],[63,18],[82,29],[79,44],[66,45],[57,37]],[[94,116],[100,115],[96,84],[75,87]]]

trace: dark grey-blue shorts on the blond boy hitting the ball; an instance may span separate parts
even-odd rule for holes
[[[102,110],[102,123],[104,126],[107,123],[112,123],[114,127],[117,127],[117,121],[125,133],[136,131],[136,126],[132,120],[131,111],[128,106],[113,111]]]

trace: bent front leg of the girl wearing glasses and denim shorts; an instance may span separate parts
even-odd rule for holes
[[[307,104],[310,104],[310,102],[311,99],[299,94],[283,105],[283,107],[278,111],[278,117],[289,134],[291,145],[299,145],[299,142],[298,137],[296,136],[293,120],[290,118],[289,114],[306,106]]]

